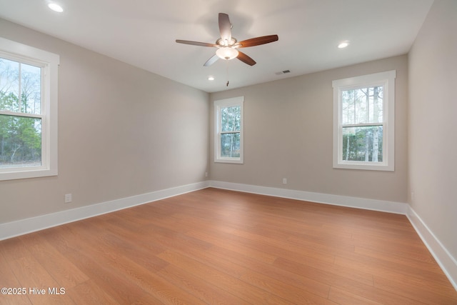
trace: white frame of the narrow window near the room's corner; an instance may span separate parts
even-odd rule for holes
[[[214,162],[243,164],[243,104],[244,96],[233,97],[231,99],[221,99],[214,101]],[[241,107],[240,122],[240,156],[221,157],[221,109],[231,106]]]

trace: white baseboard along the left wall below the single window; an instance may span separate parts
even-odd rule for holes
[[[0,224],[0,241],[3,239],[9,239],[14,236],[24,235],[34,231],[51,228],[53,226],[60,226],[61,224],[68,224],[69,222],[106,214],[112,211],[126,209],[131,206],[138,206],[140,204],[146,204],[151,201],[157,201],[160,199],[189,193],[190,191],[205,189],[208,186],[208,181],[203,181],[196,184],[177,186],[171,189],[153,191],[147,194],[106,201],[100,204],[81,206],[76,209],[69,209],[56,213],[31,217],[28,219],[7,222],[5,224]]]

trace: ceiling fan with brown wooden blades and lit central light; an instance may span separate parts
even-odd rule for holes
[[[243,63],[253,66],[256,64],[256,61],[251,59],[241,51],[238,51],[240,48],[247,48],[248,46],[258,46],[261,44],[269,44],[270,42],[277,41],[278,35],[268,35],[261,36],[251,39],[246,39],[243,41],[237,41],[234,37],[231,36],[232,25],[230,23],[229,15],[224,13],[219,13],[219,32],[221,33],[221,38],[216,40],[216,43],[209,44],[206,42],[198,41],[189,41],[189,40],[179,40],[176,39],[176,42],[179,44],[192,44],[194,46],[212,46],[217,48],[216,54],[211,56],[204,66],[211,66],[218,59],[230,60],[237,58]]]

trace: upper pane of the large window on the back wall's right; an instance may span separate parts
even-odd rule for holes
[[[342,124],[381,123],[383,86],[341,92]]]

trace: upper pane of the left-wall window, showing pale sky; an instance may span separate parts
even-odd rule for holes
[[[40,67],[0,58],[0,109],[41,113]]]

